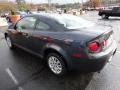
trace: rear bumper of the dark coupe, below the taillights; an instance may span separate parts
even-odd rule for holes
[[[91,54],[89,58],[71,59],[70,70],[79,70],[82,72],[96,72],[100,71],[108,62],[109,58],[115,54],[117,50],[117,44],[114,41],[113,44],[104,52],[99,54]]]

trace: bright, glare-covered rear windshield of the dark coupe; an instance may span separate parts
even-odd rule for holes
[[[57,17],[57,21],[64,25],[65,28],[71,29],[80,29],[80,28],[88,28],[94,25],[94,23],[84,20],[77,16],[61,16]]]

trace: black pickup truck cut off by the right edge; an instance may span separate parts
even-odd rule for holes
[[[113,7],[112,9],[100,10],[98,13],[103,19],[111,17],[120,17],[120,7]]]

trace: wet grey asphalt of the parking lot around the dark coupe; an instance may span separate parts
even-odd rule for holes
[[[111,26],[118,50],[112,62],[100,73],[71,72],[54,76],[43,60],[21,49],[7,47],[0,30],[0,90],[119,90],[120,89],[120,18],[102,20],[97,12],[81,16],[97,24]]]

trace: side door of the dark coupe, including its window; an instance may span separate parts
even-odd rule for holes
[[[34,16],[24,17],[15,26],[18,31],[17,44],[23,48],[31,49],[31,38],[35,29],[36,20],[37,18]]]

